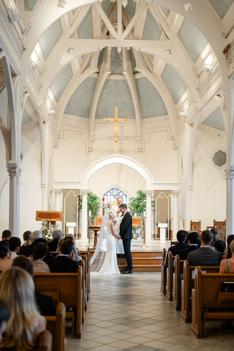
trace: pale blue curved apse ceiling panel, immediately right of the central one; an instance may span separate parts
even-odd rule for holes
[[[141,118],[157,117],[168,114],[166,105],[155,86],[147,78],[135,79]]]

